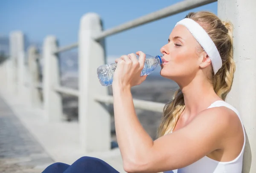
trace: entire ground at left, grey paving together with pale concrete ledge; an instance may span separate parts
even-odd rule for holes
[[[41,108],[33,108],[17,98],[0,90],[1,173],[38,173],[52,162],[72,164],[82,156],[97,157],[125,173],[119,148],[85,153],[77,122],[49,122]]]

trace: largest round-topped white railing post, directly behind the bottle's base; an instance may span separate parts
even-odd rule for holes
[[[79,31],[79,126],[81,144],[86,152],[106,151],[111,147],[110,114],[94,100],[94,95],[108,94],[97,78],[96,69],[105,63],[104,40],[96,42],[102,32],[98,14],[85,14]]]

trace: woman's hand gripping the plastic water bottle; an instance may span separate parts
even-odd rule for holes
[[[134,85],[140,85],[147,76],[140,77],[143,70],[146,55],[142,51],[136,52],[139,55],[139,60],[135,54],[123,55],[116,59],[116,70],[113,76],[113,86],[131,88]]]

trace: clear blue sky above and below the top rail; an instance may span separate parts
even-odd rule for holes
[[[1,0],[0,35],[23,31],[30,41],[43,42],[55,35],[60,45],[75,43],[79,20],[87,12],[98,13],[104,28],[118,26],[137,17],[163,9],[181,0]],[[217,14],[217,2],[189,11],[207,10]],[[107,56],[136,51],[160,54],[175,26],[189,12],[145,24],[106,38]]]

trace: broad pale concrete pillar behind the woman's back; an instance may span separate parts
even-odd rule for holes
[[[234,25],[236,72],[227,102],[235,106],[247,132],[243,173],[256,173],[256,1],[218,0],[218,16]],[[249,141],[248,141],[249,140]]]

